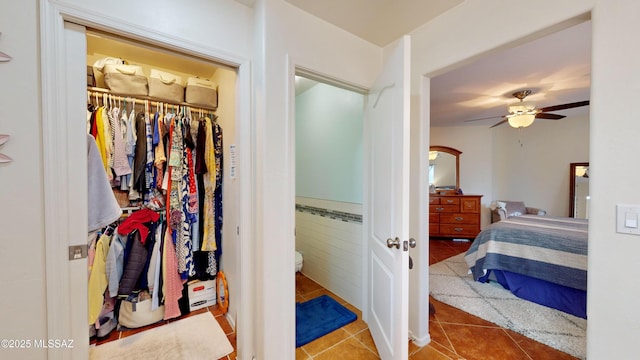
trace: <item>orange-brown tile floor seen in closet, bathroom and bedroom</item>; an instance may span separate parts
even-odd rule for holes
[[[468,242],[430,240],[429,264],[457,255],[469,248]],[[322,294],[332,296],[358,315],[358,319],[334,332],[296,349],[296,360],[367,360],[379,359],[369,328],[362,321],[361,312],[306,276],[296,273],[296,301],[306,301]],[[464,311],[431,299],[436,310],[429,316],[431,343],[419,348],[409,342],[409,360],[501,360],[501,359],[575,359],[574,357],[538,343],[516,332],[470,315]],[[189,315],[210,311],[236,348],[236,334],[217,306],[210,306]],[[176,321],[178,319],[169,320]],[[92,339],[91,344],[102,344],[144,331],[166,322],[140,329],[113,331],[105,339]],[[235,360],[233,352],[220,360]]]

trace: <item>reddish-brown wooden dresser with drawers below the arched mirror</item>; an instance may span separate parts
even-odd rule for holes
[[[429,236],[474,239],[480,232],[482,195],[429,196]]]

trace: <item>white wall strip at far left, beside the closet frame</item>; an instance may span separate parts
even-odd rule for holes
[[[0,8],[0,51],[13,57],[0,63],[0,134],[11,135],[0,152],[13,158],[0,164],[0,339],[46,339],[37,4],[1,0]],[[46,358],[45,350],[0,351]]]

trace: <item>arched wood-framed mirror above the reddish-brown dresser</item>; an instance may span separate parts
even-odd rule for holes
[[[431,192],[460,188],[461,151],[447,146],[429,147],[429,189]]]

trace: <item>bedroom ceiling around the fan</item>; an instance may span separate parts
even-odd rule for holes
[[[515,91],[530,89],[526,100],[540,108],[589,100],[590,84],[591,21],[587,21],[432,78],[431,125],[491,126],[508,113],[509,104],[519,101],[512,95]],[[588,112],[589,106],[583,106],[552,113]]]

